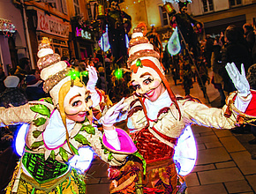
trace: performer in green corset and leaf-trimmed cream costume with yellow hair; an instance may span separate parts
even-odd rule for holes
[[[126,132],[109,124],[116,119],[114,111],[124,108],[124,104],[121,105],[121,101],[109,108],[112,114],[102,118],[108,125],[103,126],[102,136],[92,125],[90,109],[94,102],[80,77],[74,76],[76,73],[53,53],[49,41],[41,42],[38,56],[44,90],[51,98],[29,101],[20,107],[0,108],[1,125],[29,123],[24,153],[6,193],[85,193],[85,183],[79,175],[79,171],[83,171],[76,170],[83,167],[87,159],[87,155],[79,153],[80,149],[90,146],[102,160],[114,166],[124,164],[125,157],[137,150]],[[88,82],[90,85],[90,78]],[[94,99],[94,93],[91,94]],[[96,105],[102,102],[103,98]],[[112,134],[118,138],[113,139]],[[74,155],[79,157],[74,159]]]

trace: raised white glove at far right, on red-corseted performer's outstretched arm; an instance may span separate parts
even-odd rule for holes
[[[248,96],[250,92],[250,85],[245,77],[245,68],[244,64],[241,64],[241,74],[237,70],[236,64],[235,63],[227,63],[226,65],[226,70],[229,73],[229,76],[234,83],[234,86],[237,88],[238,94],[241,97],[246,97]]]

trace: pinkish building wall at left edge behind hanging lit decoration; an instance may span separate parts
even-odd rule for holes
[[[5,75],[28,56],[23,15],[11,0],[0,1],[0,66]]]

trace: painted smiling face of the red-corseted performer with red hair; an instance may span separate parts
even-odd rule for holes
[[[132,72],[132,86],[138,95],[143,95],[149,101],[156,101],[165,91],[162,79],[154,69],[142,67],[137,73]]]

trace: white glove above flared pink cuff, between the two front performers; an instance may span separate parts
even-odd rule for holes
[[[117,123],[117,117],[119,116],[120,110],[127,106],[127,104],[123,104],[123,102],[124,98],[113,107],[109,108],[106,114],[102,116],[101,123],[103,124],[103,126],[110,127],[114,123]]]

